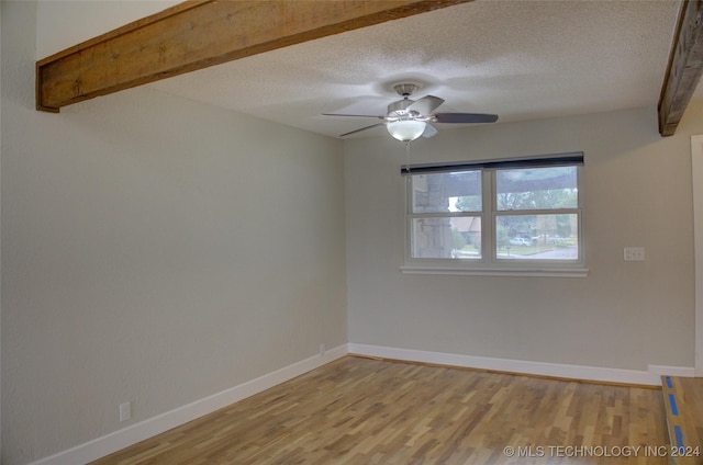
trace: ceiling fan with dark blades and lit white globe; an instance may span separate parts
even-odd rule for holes
[[[414,83],[399,83],[393,86],[395,92],[403,99],[388,105],[388,114],[378,115],[349,115],[339,113],[323,113],[325,116],[353,116],[353,117],[373,117],[382,120],[382,123],[376,123],[360,129],[341,134],[339,137],[356,134],[361,131],[370,129],[377,126],[386,126],[391,136],[401,141],[415,140],[419,137],[434,137],[437,129],[431,123],[494,123],[498,115],[483,113],[433,113],[442,103],[443,99],[434,95],[425,95],[419,100],[410,100],[410,95],[417,90],[419,86]]]

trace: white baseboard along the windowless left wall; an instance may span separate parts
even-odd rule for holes
[[[256,379],[213,394],[192,404],[176,408],[140,423],[118,430],[85,444],[42,458],[31,465],[77,465],[92,462],[140,441],[160,434],[203,415],[211,413],[238,400],[315,370],[347,354],[347,344],[325,351]]]

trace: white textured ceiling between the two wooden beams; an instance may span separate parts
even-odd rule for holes
[[[384,114],[404,81],[499,123],[656,105],[679,5],[479,0],[149,87],[330,136],[377,121],[321,113]]]

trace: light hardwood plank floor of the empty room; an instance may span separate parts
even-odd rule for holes
[[[660,389],[346,356],[93,465],[663,465],[668,445]]]

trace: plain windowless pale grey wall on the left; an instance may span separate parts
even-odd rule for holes
[[[2,463],[345,344],[341,141],[147,89],[37,112],[36,18],[2,2]]]

